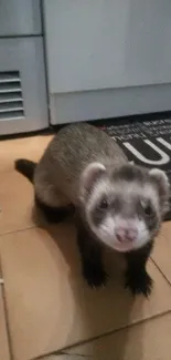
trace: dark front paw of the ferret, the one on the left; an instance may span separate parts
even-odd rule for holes
[[[99,287],[106,287],[108,276],[103,269],[88,267],[84,269],[84,278],[89,287],[96,289]]]

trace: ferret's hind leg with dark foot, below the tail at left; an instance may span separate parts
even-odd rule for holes
[[[53,186],[35,187],[35,205],[49,223],[61,223],[74,215],[75,207]]]

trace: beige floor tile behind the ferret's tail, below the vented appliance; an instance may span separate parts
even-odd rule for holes
[[[0,141],[0,173],[13,169],[18,157],[38,161],[52,136],[39,135],[32,137]]]

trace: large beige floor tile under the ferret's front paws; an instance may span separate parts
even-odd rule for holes
[[[150,300],[122,288],[114,254],[106,289],[83,281],[71,224],[0,237],[0,254],[15,360],[28,360],[171,309],[171,287],[152,263]],[[113,263],[113,266],[111,266]],[[120,359],[119,359],[120,360]],[[149,360],[149,359],[148,359]]]

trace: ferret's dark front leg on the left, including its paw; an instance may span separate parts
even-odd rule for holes
[[[77,244],[85,280],[93,288],[105,286],[107,276],[103,265],[101,246],[81,222],[77,224]]]

